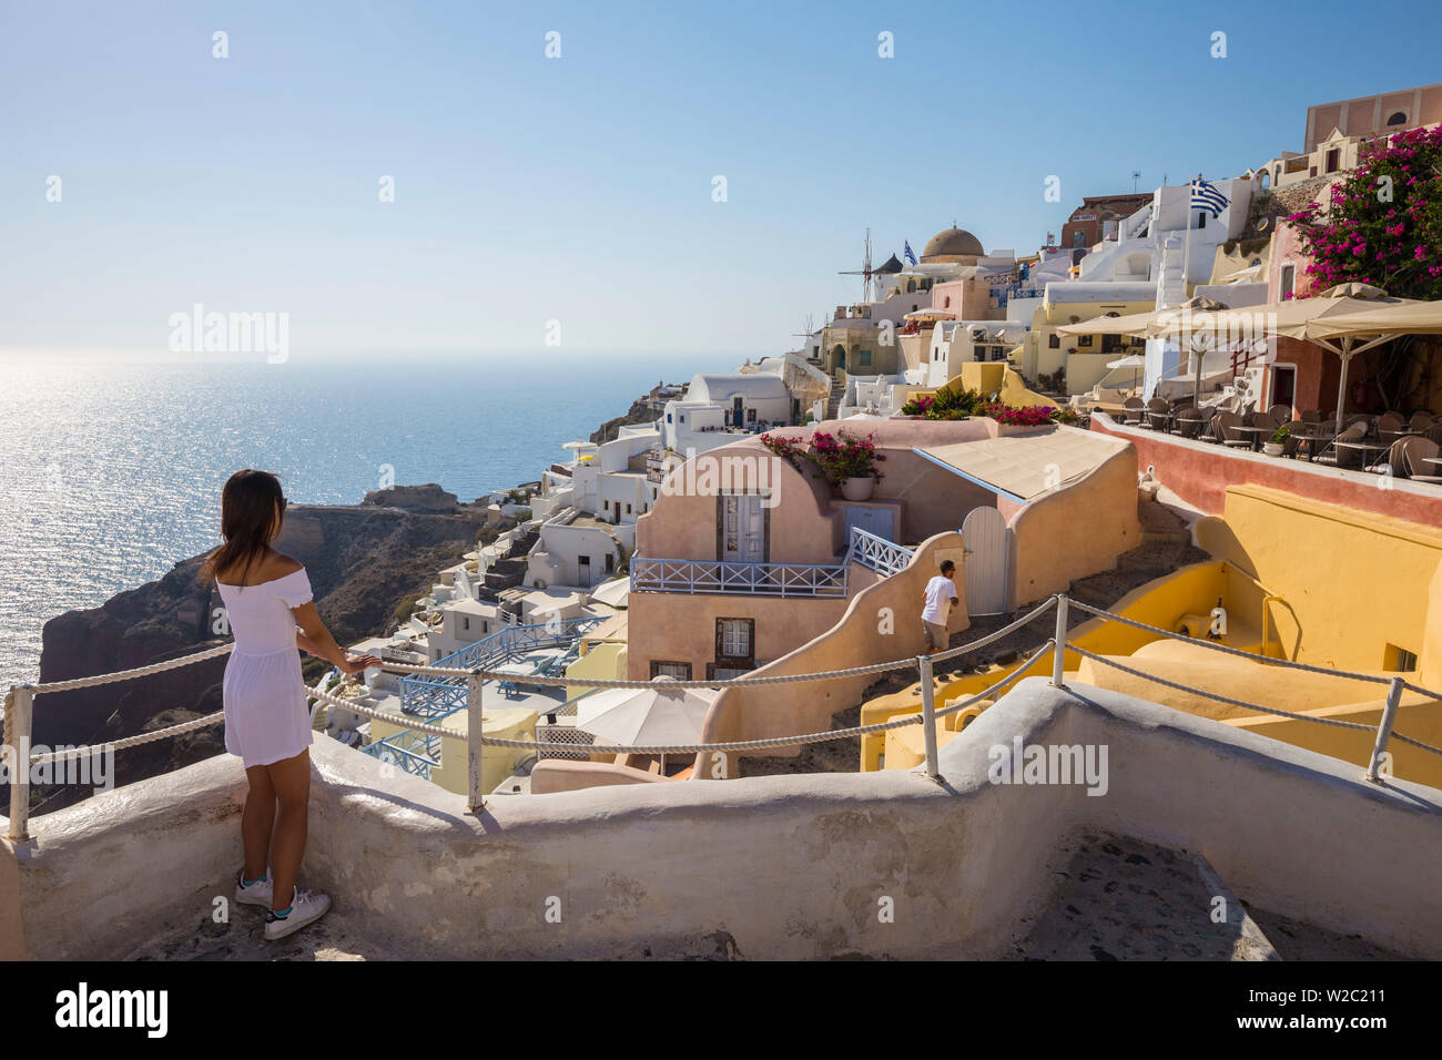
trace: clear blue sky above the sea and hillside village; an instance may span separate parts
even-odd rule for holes
[[[293,356],[779,352],[868,225],[1028,251],[1133,169],[1234,176],[1442,81],[1438,12],[0,0],[0,346],[163,350],[199,301]]]

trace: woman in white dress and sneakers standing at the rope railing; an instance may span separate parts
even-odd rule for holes
[[[235,900],[268,909],[267,939],[298,932],[330,909],[324,894],[296,890],[306,852],[311,740],[297,649],[345,673],[381,665],[373,655],[348,656],[336,645],[316,613],[306,568],[270,547],[284,518],[286,496],[274,474],[232,474],[221,493],[225,544],[206,558],[200,574],[215,578],[235,635],[222,686],[225,750],[241,757],[251,783],[241,816],[245,867]]]

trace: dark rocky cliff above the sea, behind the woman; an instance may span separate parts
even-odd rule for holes
[[[457,505],[438,486],[366,495],[355,506],[293,505],[275,547],[300,560],[316,607],[342,645],[394,627],[394,613],[424,593],[435,573],[476,547],[486,513]],[[495,536],[496,529],[485,536]],[[219,594],[198,581],[202,555],[159,581],[120,593],[101,607],[68,611],[45,624],[40,681],[146,666],[224,643]],[[134,681],[36,699],[35,741],[84,744],[133,736],[221,708],[225,658]],[[115,756],[117,785],[177,769],[224,750],[221,725]],[[50,809],[79,793],[52,792]]]

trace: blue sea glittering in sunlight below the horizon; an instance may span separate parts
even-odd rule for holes
[[[461,500],[539,477],[561,444],[665,378],[743,356],[0,359],[0,688],[36,681],[40,629],[219,541],[221,486],[277,473],[297,503],[358,503],[394,467]]]

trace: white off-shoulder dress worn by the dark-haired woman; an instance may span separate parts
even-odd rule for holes
[[[215,583],[235,635],[225,663],[225,750],[245,767],[270,766],[310,747],[291,607],[311,600],[306,568],[258,586]]]

